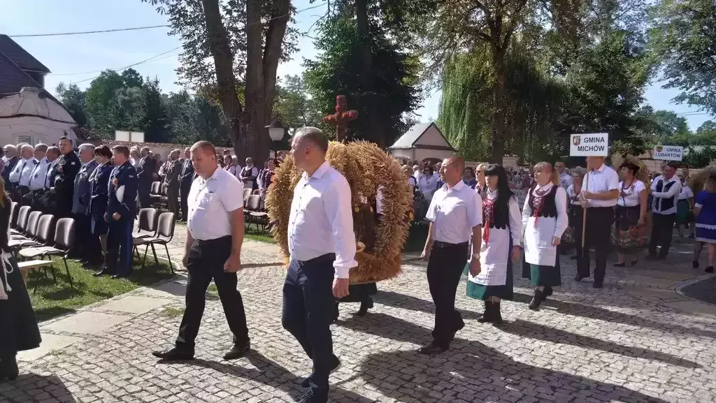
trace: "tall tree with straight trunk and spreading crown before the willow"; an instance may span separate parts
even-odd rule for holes
[[[442,0],[430,16],[427,29],[426,56],[430,58],[435,77],[442,77],[442,67],[459,54],[484,49],[489,55],[490,113],[489,155],[501,163],[505,153],[508,128],[508,49],[523,26],[523,21],[538,20],[552,24],[565,34],[579,31],[581,2],[577,0]]]

